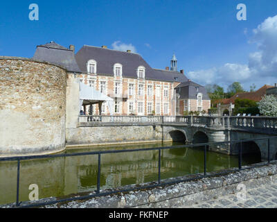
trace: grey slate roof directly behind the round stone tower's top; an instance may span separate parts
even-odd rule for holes
[[[55,42],[37,46],[33,59],[60,65],[67,71],[81,72],[75,60],[74,52]]]

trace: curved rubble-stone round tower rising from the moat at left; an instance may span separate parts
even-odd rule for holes
[[[0,97],[0,156],[64,149],[64,69],[25,58],[0,57]]]

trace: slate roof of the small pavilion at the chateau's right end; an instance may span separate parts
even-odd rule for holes
[[[197,94],[202,93],[203,100],[210,100],[205,87],[197,83],[194,83],[193,81],[180,83],[179,85],[177,85],[177,87],[175,87],[175,89],[176,93],[180,95],[179,99],[197,99]]]

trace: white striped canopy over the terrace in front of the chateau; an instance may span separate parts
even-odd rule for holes
[[[93,87],[80,83],[80,110],[82,105],[98,104],[99,112],[101,114],[102,103],[107,102],[109,113],[113,114],[114,99],[102,94]]]

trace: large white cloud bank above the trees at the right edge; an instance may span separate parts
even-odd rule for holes
[[[226,63],[222,67],[190,71],[188,77],[202,85],[216,83],[224,87],[239,81],[245,89],[251,83],[258,87],[277,83],[277,15],[253,29],[250,42],[257,45],[258,51],[249,54],[247,65]]]

